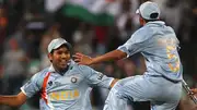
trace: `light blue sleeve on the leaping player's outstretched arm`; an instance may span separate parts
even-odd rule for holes
[[[150,36],[151,32],[141,28],[134,33],[124,45],[117,48],[117,50],[126,52],[127,57],[130,57],[137,52],[142,51],[146,48],[147,39]]]

